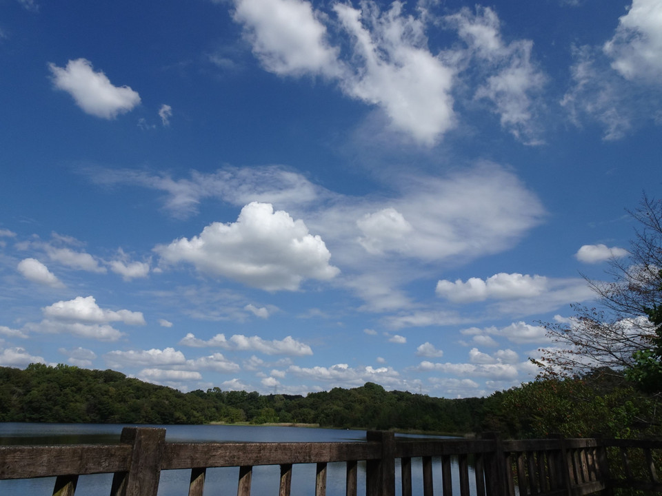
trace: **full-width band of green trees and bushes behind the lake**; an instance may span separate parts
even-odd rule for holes
[[[368,382],[308,395],[181,393],[117,371],[30,364],[0,367],[0,422],[203,424],[301,423],[322,427],[505,437],[608,437],[662,434],[659,395],[635,389],[623,374],[547,378],[488,397],[448,399],[385,391]]]

